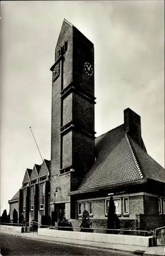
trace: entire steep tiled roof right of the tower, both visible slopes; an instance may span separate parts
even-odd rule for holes
[[[119,184],[141,178],[165,182],[165,170],[127,137],[124,124],[96,138],[98,157],[78,190]]]

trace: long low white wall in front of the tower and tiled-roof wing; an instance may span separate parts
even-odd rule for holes
[[[49,228],[39,228],[38,236],[48,236],[54,238],[69,238],[74,240],[94,241],[98,243],[112,243],[112,244],[125,244],[137,246],[150,246],[150,240],[153,237],[140,237],[140,236],[127,236],[123,234],[100,234],[100,233],[86,233],[86,232],[73,232],[61,231]]]

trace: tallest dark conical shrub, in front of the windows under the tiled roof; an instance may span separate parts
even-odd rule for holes
[[[120,220],[119,220],[119,217],[116,215],[116,207],[113,201],[113,197],[110,197],[110,200],[109,200],[107,228],[120,229]],[[119,232],[106,230],[106,233],[119,233]]]

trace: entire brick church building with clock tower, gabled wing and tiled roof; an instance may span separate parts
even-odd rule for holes
[[[51,160],[26,169],[11,218],[15,208],[26,222],[63,216],[79,227],[86,209],[106,228],[113,196],[122,228],[164,226],[165,170],[147,154],[140,116],[127,108],[120,126],[96,137],[94,46],[65,19],[51,71]]]

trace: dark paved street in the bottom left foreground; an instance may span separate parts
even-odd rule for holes
[[[84,248],[73,245],[63,245],[42,242],[32,239],[1,234],[2,255],[97,255],[126,256],[128,254],[114,251]]]

